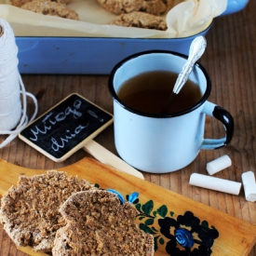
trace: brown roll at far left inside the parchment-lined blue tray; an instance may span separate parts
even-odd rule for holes
[[[50,16],[58,16],[65,19],[71,20],[79,20],[78,14],[67,7],[64,4],[41,0],[33,0],[32,2],[27,2],[22,5],[20,8],[34,11],[36,13],[50,15]]]

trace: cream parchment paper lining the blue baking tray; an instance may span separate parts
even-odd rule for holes
[[[79,21],[62,19],[10,6],[0,0],[0,18],[7,20],[16,36],[84,36],[127,38],[174,38],[200,33],[213,18],[226,9],[227,0],[176,0],[165,18],[167,31],[107,25],[115,14],[103,9],[96,0],[72,0],[68,5]]]

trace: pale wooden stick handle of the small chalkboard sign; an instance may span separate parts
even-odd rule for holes
[[[144,180],[144,177],[139,170],[129,166],[125,161],[114,155],[112,152],[108,151],[96,141],[88,141],[83,149],[88,152],[88,154],[94,156],[101,163],[116,168],[117,170],[125,171]]]

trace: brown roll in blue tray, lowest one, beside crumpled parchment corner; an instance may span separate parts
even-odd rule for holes
[[[166,21],[161,17],[141,11],[121,14],[117,16],[114,20],[111,20],[109,24],[124,27],[155,29],[162,31],[165,31],[168,28]]]

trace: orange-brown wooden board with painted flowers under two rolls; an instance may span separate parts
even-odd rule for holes
[[[201,255],[248,255],[256,242],[255,225],[195,202],[183,195],[173,193],[151,182],[110,168],[94,159],[84,158],[72,166],[59,170],[64,170],[69,175],[77,175],[79,179],[87,179],[88,182],[97,184],[102,189],[115,189],[125,199],[133,192],[138,192],[139,197],[133,202],[140,211],[136,222],[141,229],[155,236],[155,256],[171,255],[171,251],[175,248],[181,253],[184,252],[182,246],[176,242],[173,236],[175,227],[171,223],[174,222],[187,230],[191,230],[190,223],[195,224],[196,222],[194,225],[196,232],[193,233],[193,237],[199,243],[208,244],[209,251],[212,251],[209,254]],[[46,170],[22,168],[0,160],[0,195],[6,193],[12,184],[16,185],[20,175],[33,176],[41,173],[46,173]],[[219,236],[216,237],[216,234]],[[212,243],[209,243],[210,239]],[[195,252],[197,248],[198,244],[195,242],[190,250]],[[31,248],[19,249],[29,255],[47,255],[36,253]]]

